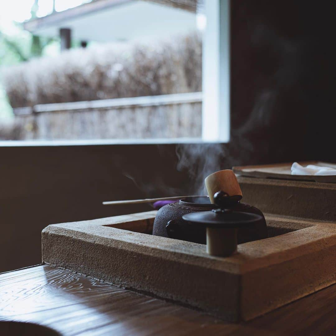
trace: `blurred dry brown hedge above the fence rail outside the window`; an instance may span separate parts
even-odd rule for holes
[[[35,104],[136,97],[202,90],[197,34],[116,48],[73,49],[3,71],[13,108]]]

